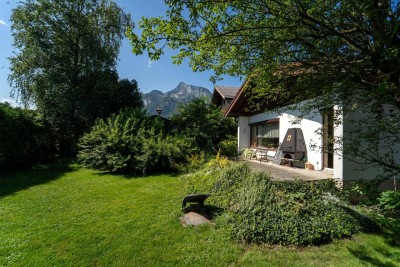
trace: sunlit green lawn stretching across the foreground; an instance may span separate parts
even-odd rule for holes
[[[1,266],[400,266],[398,232],[299,249],[237,244],[217,225],[184,228],[184,191],[170,175],[65,164],[0,175]]]

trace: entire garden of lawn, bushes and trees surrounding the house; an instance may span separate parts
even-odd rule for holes
[[[388,119],[358,126],[371,130],[370,144],[388,133],[388,153],[372,160],[395,182],[399,5],[168,2],[170,20],[143,17],[141,36],[114,1],[26,1],[12,11],[8,80],[24,108],[0,103],[0,265],[400,266],[398,191],[254,172],[232,160],[237,121],[210,99],[149,116],[136,80],[116,71],[127,35],[133,53],[180,51],[174,63],[212,69],[214,82],[254,77],[249,112],[304,96],[316,99],[312,110],[369,104]],[[363,145],[351,143],[355,158]],[[184,226],[182,199],[196,193],[211,195],[212,220]]]

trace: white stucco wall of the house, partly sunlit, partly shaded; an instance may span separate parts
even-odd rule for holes
[[[334,107],[337,121],[335,123],[335,154],[333,159],[333,176],[335,179],[348,183],[359,179],[373,179],[381,172],[379,168],[368,168],[365,164],[357,164],[355,161],[360,159],[353,158],[346,152],[346,145],[341,144],[341,141],[346,144],[346,137],[354,131],[354,122],[357,119],[362,119],[365,114],[362,112],[352,111],[349,114],[342,114],[341,107]],[[276,112],[265,112],[250,117],[239,117],[238,119],[238,148],[239,150],[250,146],[250,126],[249,124],[264,122],[271,119],[279,118],[279,140],[282,143],[285,134],[289,128],[301,128],[304,135],[304,141],[307,146],[307,160],[314,165],[315,170],[323,169],[323,138],[321,130],[323,126],[323,116],[318,110],[314,110],[303,119],[296,121],[296,118],[301,113],[296,110],[285,110],[282,114]],[[342,137],[345,137],[342,139]],[[339,142],[338,142],[339,141]],[[379,141],[378,141],[379,142]],[[400,164],[400,143],[394,149],[396,151],[396,159]],[[399,178],[399,177],[397,177]]]

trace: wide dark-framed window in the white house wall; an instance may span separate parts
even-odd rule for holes
[[[270,120],[260,124],[251,125],[251,146],[278,147],[279,146],[279,120]]]

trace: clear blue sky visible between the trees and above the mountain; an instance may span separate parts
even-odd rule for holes
[[[19,0],[0,0],[0,102],[8,101],[12,88],[7,77],[10,74],[10,63],[7,59],[13,55],[11,36],[11,10],[17,6]],[[130,13],[134,23],[142,17],[156,17],[165,15],[166,6],[163,0],[117,0],[125,12]],[[135,79],[141,92],[148,93],[152,90],[162,92],[174,89],[179,82],[190,85],[202,86],[213,90],[214,85],[209,81],[212,75],[208,72],[193,72],[188,62],[181,65],[172,64],[173,51],[166,50],[158,61],[150,61],[147,55],[135,56],[128,40],[124,40],[120,50],[117,70],[121,79]],[[237,77],[224,76],[219,85],[240,86],[242,80]]]

